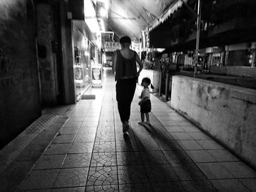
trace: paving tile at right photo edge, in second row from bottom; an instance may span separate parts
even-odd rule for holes
[[[256,178],[256,172],[241,161],[223,162],[221,164],[236,178]]]

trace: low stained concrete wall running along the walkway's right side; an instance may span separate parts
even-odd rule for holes
[[[256,91],[173,76],[171,107],[256,167]]]

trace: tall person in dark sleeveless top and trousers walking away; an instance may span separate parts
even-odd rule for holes
[[[113,72],[116,80],[116,101],[118,112],[123,123],[123,132],[129,130],[129,116],[136,83],[143,69],[138,53],[131,50],[131,39],[127,36],[120,39],[121,50],[113,53]],[[137,64],[140,66],[137,71]]]

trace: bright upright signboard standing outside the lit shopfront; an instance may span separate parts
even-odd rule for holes
[[[102,64],[91,65],[91,86],[102,88]]]

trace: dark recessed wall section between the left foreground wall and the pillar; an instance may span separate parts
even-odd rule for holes
[[[35,5],[37,10],[37,43],[39,52],[39,74],[42,88],[42,104],[57,103],[58,85],[58,55],[53,42],[58,45],[58,26],[56,25],[56,10],[51,4],[42,1]]]

